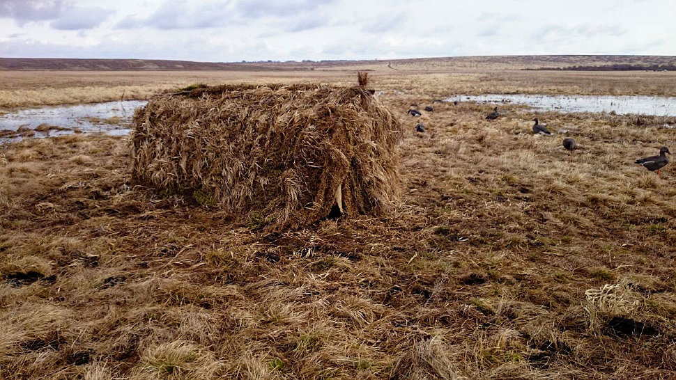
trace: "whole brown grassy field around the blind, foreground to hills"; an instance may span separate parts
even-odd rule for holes
[[[0,75],[0,93],[7,81],[37,91],[15,106],[52,99],[31,103],[47,73]],[[145,97],[194,81],[271,80],[184,75],[49,82],[53,94],[114,98],[132,86]],[[272,81],[353,81],[317,75]],[[538,114],[583,146],[569,155],[561,135],[533,136],[535,115],[521,107],[489,122],[487,104],[431,103],[501,90],[669,95],[675,78],[376,72],[379,98],[406,127],[401,204],[387,219],[282,235],[137,186],[127,138],[3,146],[0,378],[676,377],[676,166],[658,177],[633,164],[661,145],[674,151],[676,129],[660,126],[675,120]],[[424,134],[413,132],[411,103],[435,106]]]

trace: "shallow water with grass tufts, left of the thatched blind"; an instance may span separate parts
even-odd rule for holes
[[[145,104],[144,100],[127,100],[0,113],[0,141],[88,132],[128,134],[134,111]]]

